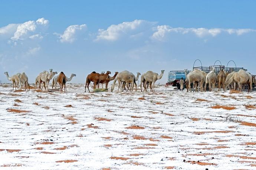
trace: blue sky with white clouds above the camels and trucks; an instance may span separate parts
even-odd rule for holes
[[[165,74],[231,59],[256,74],[256,1],[2,1],[0,72]],[[230,63],[232,67],[234,64]],[[199,63],[196,63],[199,66]],[[2,82],[7,81],[0,74]]]

